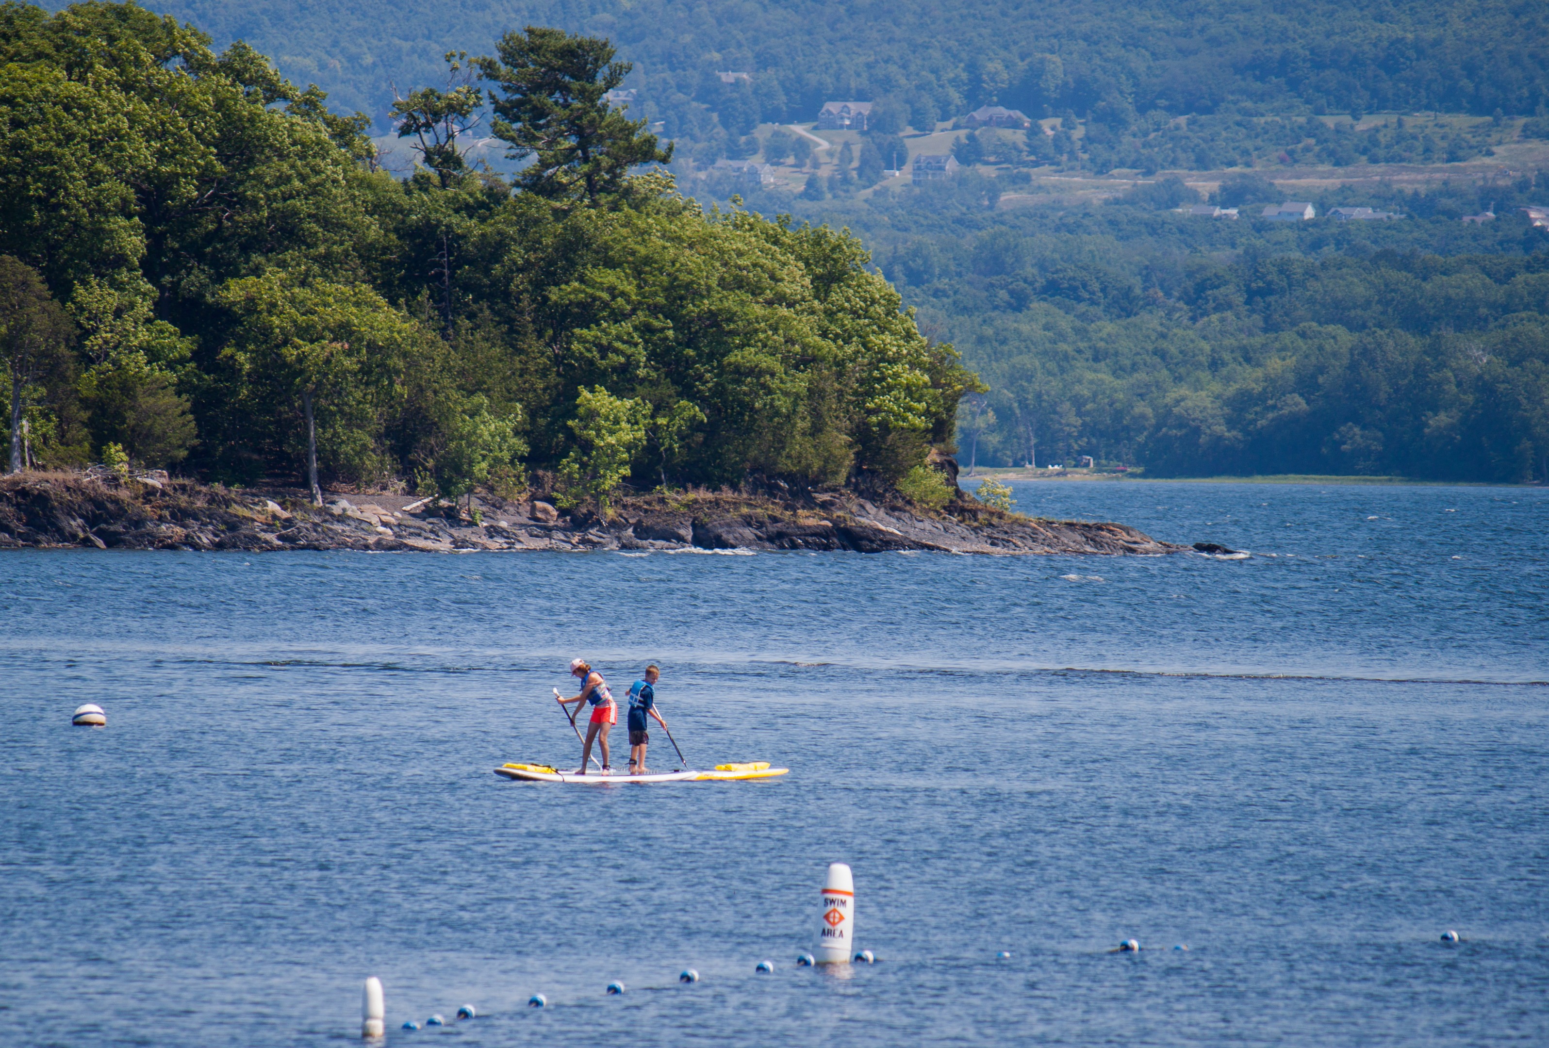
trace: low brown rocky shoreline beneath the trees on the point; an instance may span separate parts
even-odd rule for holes
[[[889,497],[891,495],[891,497]],[[479,497],[469,517],[407,495],[229,489],[164,475],[0,478],[0,550],[929,550],[979,554],[1160,556],[1188,546],[1118,523],[1032,520],[962,495],[940,512],[895,492],[672,492],[615,500],[609,520],[544,498]]]

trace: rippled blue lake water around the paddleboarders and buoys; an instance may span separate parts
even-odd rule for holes
[[[1016,495],[1255,556],[0,556],[0,1043],[1544,1043],[1549,492]]]

